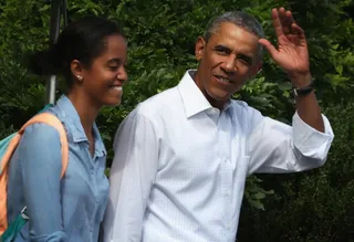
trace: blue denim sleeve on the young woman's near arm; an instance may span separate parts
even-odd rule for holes
[[[23,134],[18,152],[24,185],[24,203],[30,217],[30,241],[65,241],[60,192],[62,158],[58,130],[45,124],[31,125]]]

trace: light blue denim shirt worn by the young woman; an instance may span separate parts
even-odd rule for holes
[[[28,127],[10,161],[8,221],[13,221],[27,206],[30,220],[15,242],[96,242],[108,196],[104,144],[94,125],[92,157],[80,117],[66,96],[49,112],[55,114],[66,129],[66,172],[61,180],[56,129],[45,124]]]

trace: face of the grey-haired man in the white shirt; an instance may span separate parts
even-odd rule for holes
[[[233,23],[221,23],[207,43],[199,38],[195,51],[200,61],[196,84],[218,108],[261,67],[258,36]]]

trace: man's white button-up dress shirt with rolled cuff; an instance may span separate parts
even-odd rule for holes
[[[324,164],[333,133],[292,127],[241,101],[214,108],[188,71],[117,130],[105,242],[235,242],[244,181]]]

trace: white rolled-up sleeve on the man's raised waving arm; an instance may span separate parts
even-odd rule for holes
[[[249,173],[296,172],[322,166],[334,137],[329,119],[324,115],[322,118],[324,133],[309,126],[298,113],[289,126],[254,111],[254,128],[248,141]]]

